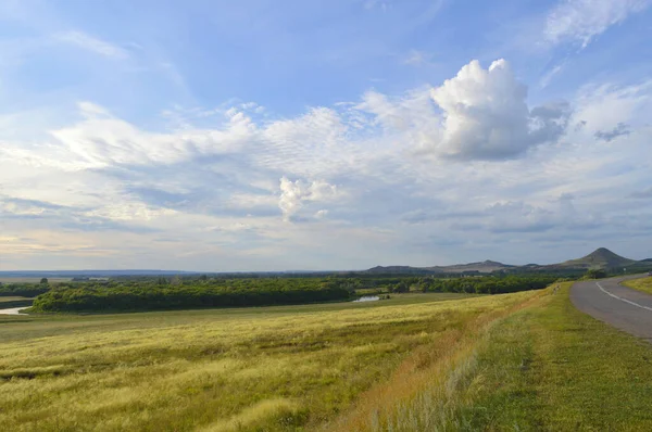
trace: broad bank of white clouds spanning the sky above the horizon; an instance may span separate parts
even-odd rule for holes
[[[82,103],[79,119],[42,142],[0,145],[12,195],[0,205],[3,229],[122,259],[88,266],[223,270],[446,264],[434,258],[441,244],[473,261],[466,247],[501,259],[494,245],[510,243],[518,262],[552,234],[567,244],[591,230],[644,233],[652,85],[587,86],[567,127],[566,105],[530,109],[526,93],[499,61],[472,62],[435,89],[369,91],[290,118],[250,117],[242,110],[258,105],[231,101],[181,130],[146,130]],[[630,132],[595,139],[618,124]],[[513,249],[519,241],[530,245]]]

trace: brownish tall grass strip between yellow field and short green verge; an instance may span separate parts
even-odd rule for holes
[[[385,383],[367,391],[354,408],[328,425],[330,431],[459,431],[464,409],[485,389],[477,353],[490,330],[543,292],[478,314],[442,334],[437,345],[418,347]]]

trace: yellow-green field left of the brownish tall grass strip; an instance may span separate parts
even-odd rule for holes
[[[479,320],[532,295],[0,316],[0,424],[11,431],[315,430],[396,370],[429,365]]]

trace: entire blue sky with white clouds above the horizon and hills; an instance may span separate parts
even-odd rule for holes
[[[652,0],[1,0],[0,270],[652,257]]]

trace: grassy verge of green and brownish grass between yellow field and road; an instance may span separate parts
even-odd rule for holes
[[[569,283],[480,330],[428,385],[349,430],[652,430],[652,345],[576,310]],[[398,380],[397,380],[398,381]]]

